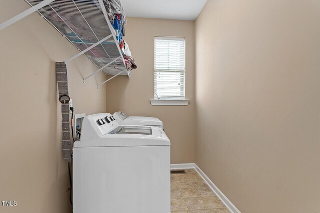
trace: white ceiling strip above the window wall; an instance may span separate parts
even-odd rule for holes
[[[195,20],[207,0],[121,0],[126,16]]]

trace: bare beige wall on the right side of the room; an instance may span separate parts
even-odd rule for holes
[[[208,0],[195,162],[242,213],[320,213],[320,1]]]

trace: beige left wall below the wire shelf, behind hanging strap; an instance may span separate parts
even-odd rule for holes
[[[24,0],[1,0],[0,23],[27,8]],[[55,61],[78,51],[37,13],[1,30],[0,40],[0,201],[17,201],[0,212],[71,213]],[[82,83],[96,67],[81,56],[67,68],[75,113],[105,112],[106,86]]]

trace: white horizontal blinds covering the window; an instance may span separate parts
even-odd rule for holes
[[[154,99],[184,99],[185,39],[154,37]]]

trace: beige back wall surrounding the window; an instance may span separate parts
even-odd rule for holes
[[[194,21],[128,18],[125,40],[138,66],[131,79],[117,76],[107,83],[107,111],[158,117],[171,141],[171,163],[194,161]],[[188,106],[151,106],[154,36],[180,36],[186,41]]]

